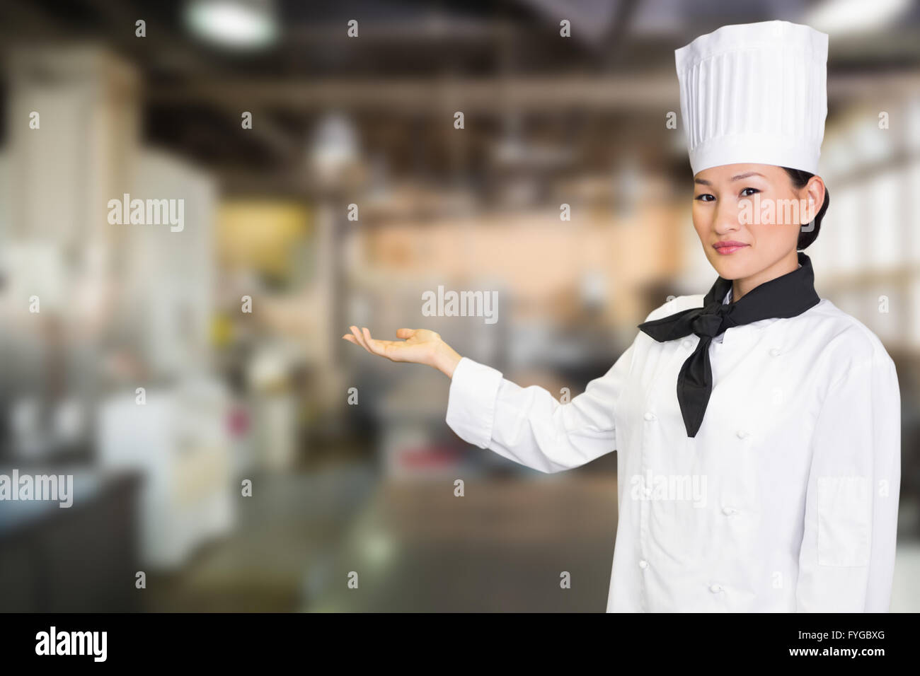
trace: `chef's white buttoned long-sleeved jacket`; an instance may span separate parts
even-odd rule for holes
[[[446,422],[547,473],[617,451],[608,613],[887,612],[901,397],[879,338],[826,299],[727,329],[709,346],[712,395],[689,438],[676,383],[698,340],[640,331],[567,404],[464,357]]]

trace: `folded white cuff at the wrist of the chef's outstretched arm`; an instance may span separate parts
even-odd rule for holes
[[[467,443],[489,448],[501,380],[500,371],[468,357],[454,367],[446,422]]]

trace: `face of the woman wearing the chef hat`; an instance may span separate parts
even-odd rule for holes
[[[820,209],[823,190],[818,177],[795,189],[781,166],[722,165],[699,172],[693,225],[709,263],[727,280],[753,279],[758,273],[770,279],[776,276],[770,269],[788,267],[790,257],[797,264],[799,230]]]

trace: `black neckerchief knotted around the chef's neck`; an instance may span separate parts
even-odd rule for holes
[[[703,307],[638,325],[639,329],[659,342],[684,338],[691,333],[700,338],[693,354],[687,357],[677,375],[677,400],[688,437],[696,437],[712,394],[712,365],[709,363],[712,338],[730,327],[740,327],[761,319],[801,315],[821,301],[814,290],[811,258],[802,251],[798,253],[799,269],[759,284],[734,303],[723,303],[731,289],[731,280],[719,276],[703,299]]]

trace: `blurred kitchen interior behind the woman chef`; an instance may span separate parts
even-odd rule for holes
[[[69,510],[0,503],[0,610],[603,612],[615,454],[543,475],[469,446],[442,373],[340,337],[430,328],[580,394],[715,279],[674,49],[773,18],[831,35],[808,253],[897,364],[891,610],[920,610],[920,9],[896,0],[0,2],[0,473],[75,475]],[[183,229],[109,223],[124,193],[184,200]],[[439,285],[498,291],[498,321],[422,315]]]

